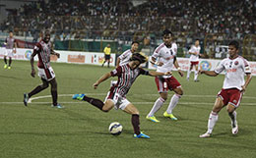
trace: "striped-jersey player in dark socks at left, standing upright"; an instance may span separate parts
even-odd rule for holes
[[[51,96],[52,96],[52,107],[63,108],[58,104],[58,92],[57,92],[57,81],[55,79],[55,74],[50,66],[50,55],[56,55],[59,58],[59,53],[56,53],[51,46],[50,42],[50,31],[45,30],[42,40],[35,44],[31,57],[32,65],[32,78],[35,77],[35,70],[33,67],[33,58],[35,55],[38,56],[37,70],[38,76],[40,77],[42,84],[36,86],[30,93],[24,94],[24,104],[28,105],[29,99],[32,95],[37,94],[41,90],[47,88],[49,83],[51,85]]]

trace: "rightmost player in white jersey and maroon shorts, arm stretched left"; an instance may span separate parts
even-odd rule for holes
[[[224,86],[218,93],[213,111],[208,120],[208,131],[199,135],[199,137],[210,137],[218,121],[219,112],[226,106],[227,113],[231,120],[231,132],[238,132],[235,109],[238,108],[243,92],[252,79],[249,63],[243,57],[238,55],[239,43],[235,40],[228,44],[229,58],[225,58],[215,71],[200,71],[210,77],[216,77],[225,71]],[[244,75],[246,80],[244,81]]]

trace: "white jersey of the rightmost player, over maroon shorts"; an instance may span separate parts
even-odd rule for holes
[[[235,59],[225,58],[215,70],[217,74],[220,74],[223,71],[225,71],[224,89],[237,88],[242,90],[241,86],[245,83],[245,74],[251,73],[248,61],[241,56],[238,56]]]

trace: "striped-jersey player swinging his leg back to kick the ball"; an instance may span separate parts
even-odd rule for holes
[[[147,57],[141,55],[140,53],[135,53],[130,58],[128,64],[117,67],[110,73],[106,73],[100,79],[96,80],[94,87],[96,88],[102,81],[109,79],[110,77],[118,77],[117,84],[111,86],[108,91],[105,101],[102,102],[99,99],[89,97],[85,94],[75,94],[73,99],[84,100],[94,105],[96,108],[103,112],[108,112],[113,107],[115,109],[121,109],[124,112],[132,115],[132,126],[134,129],[135,138],[150,138],[149,135],[140,131],[140,119],[138,109],[126,98],[126,94],[131,88],[135,79],[140,75],[146,76],[163,76],[171,75],[170,72],[159,73],[159,72],[148,72],[140,68],[140,64],[147,62]]]

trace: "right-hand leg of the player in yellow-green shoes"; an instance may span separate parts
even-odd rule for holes
[[[172,114],[172,110],[176,107],[179,99],[183,95],[183,89],[181,84],[174,77],[168,79],[167,84],[169,89],[172,89],[175,94],[171,97],[167,110],[163,113],[163,116],[170,118],[171,120],[177,120],[177,118]]]

